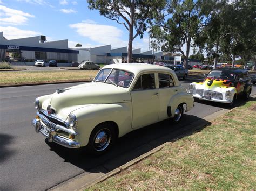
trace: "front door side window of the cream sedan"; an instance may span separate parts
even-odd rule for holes
[[[133,90],[155,89],[156,84],[154,79],[154,74],[141,75],[134,85]]]

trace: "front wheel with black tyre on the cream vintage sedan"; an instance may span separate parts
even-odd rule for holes
[[[103,123],[93,129],[88,147],[93,154],[103,154],[110,149],[116,140],[116,133],[111,124]]]

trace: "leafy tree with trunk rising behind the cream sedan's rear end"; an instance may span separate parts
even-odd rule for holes
[[[210,10],[203,0],[168,1],[161,17],[154,19],[152,24],[152,44],[161,47],[162,51],[180,52],[184,58],[184,67],[187,68],[190,47],[196,46],[194,39],[208,22]],[[186,52],[181,49],[185,44]]]

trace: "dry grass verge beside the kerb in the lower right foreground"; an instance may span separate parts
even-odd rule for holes
[[[256,188],[256,101],[165,146],[92,190]]]

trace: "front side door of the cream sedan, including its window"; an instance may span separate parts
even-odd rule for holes
[[[131,91],[133,129],[158,122],[160,103],[158,91],[156,73],[146,73],[138,77]]]

